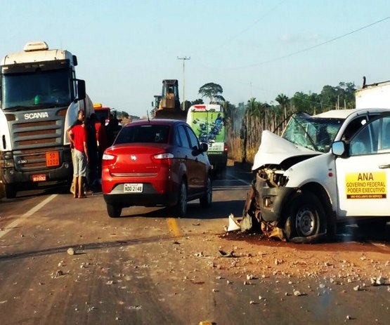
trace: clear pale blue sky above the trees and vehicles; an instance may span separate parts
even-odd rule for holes
[[[77,55],[93,102],[145,117],[163,79],[233,105],[390,80],[389,0],[0,0],[0,57],[46,41]],[[186,60],[183,60],[186,58]],[[203,98],[208,103],[207,98]]]

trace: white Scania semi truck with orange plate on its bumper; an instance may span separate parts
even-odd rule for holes
[[[25,185],[72,179],[67,129],[93,104],[76,79],[77,57],[44,41],[0,63],[0,171],[7,198]]]

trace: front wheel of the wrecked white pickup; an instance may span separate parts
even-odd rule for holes
[[[298,193],[288,208],[285,223],[287,240],[294,237],[310,237],[325,233],[326,218],[323,205],[316,195],[303,191]]]

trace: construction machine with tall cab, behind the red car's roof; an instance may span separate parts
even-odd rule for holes
[[[155,119],[181,119],[186,121],[187,112],[181,110],[178,98],[178,81],[176,79],[164,79],[162,81],[162,93],[155,95]]]

